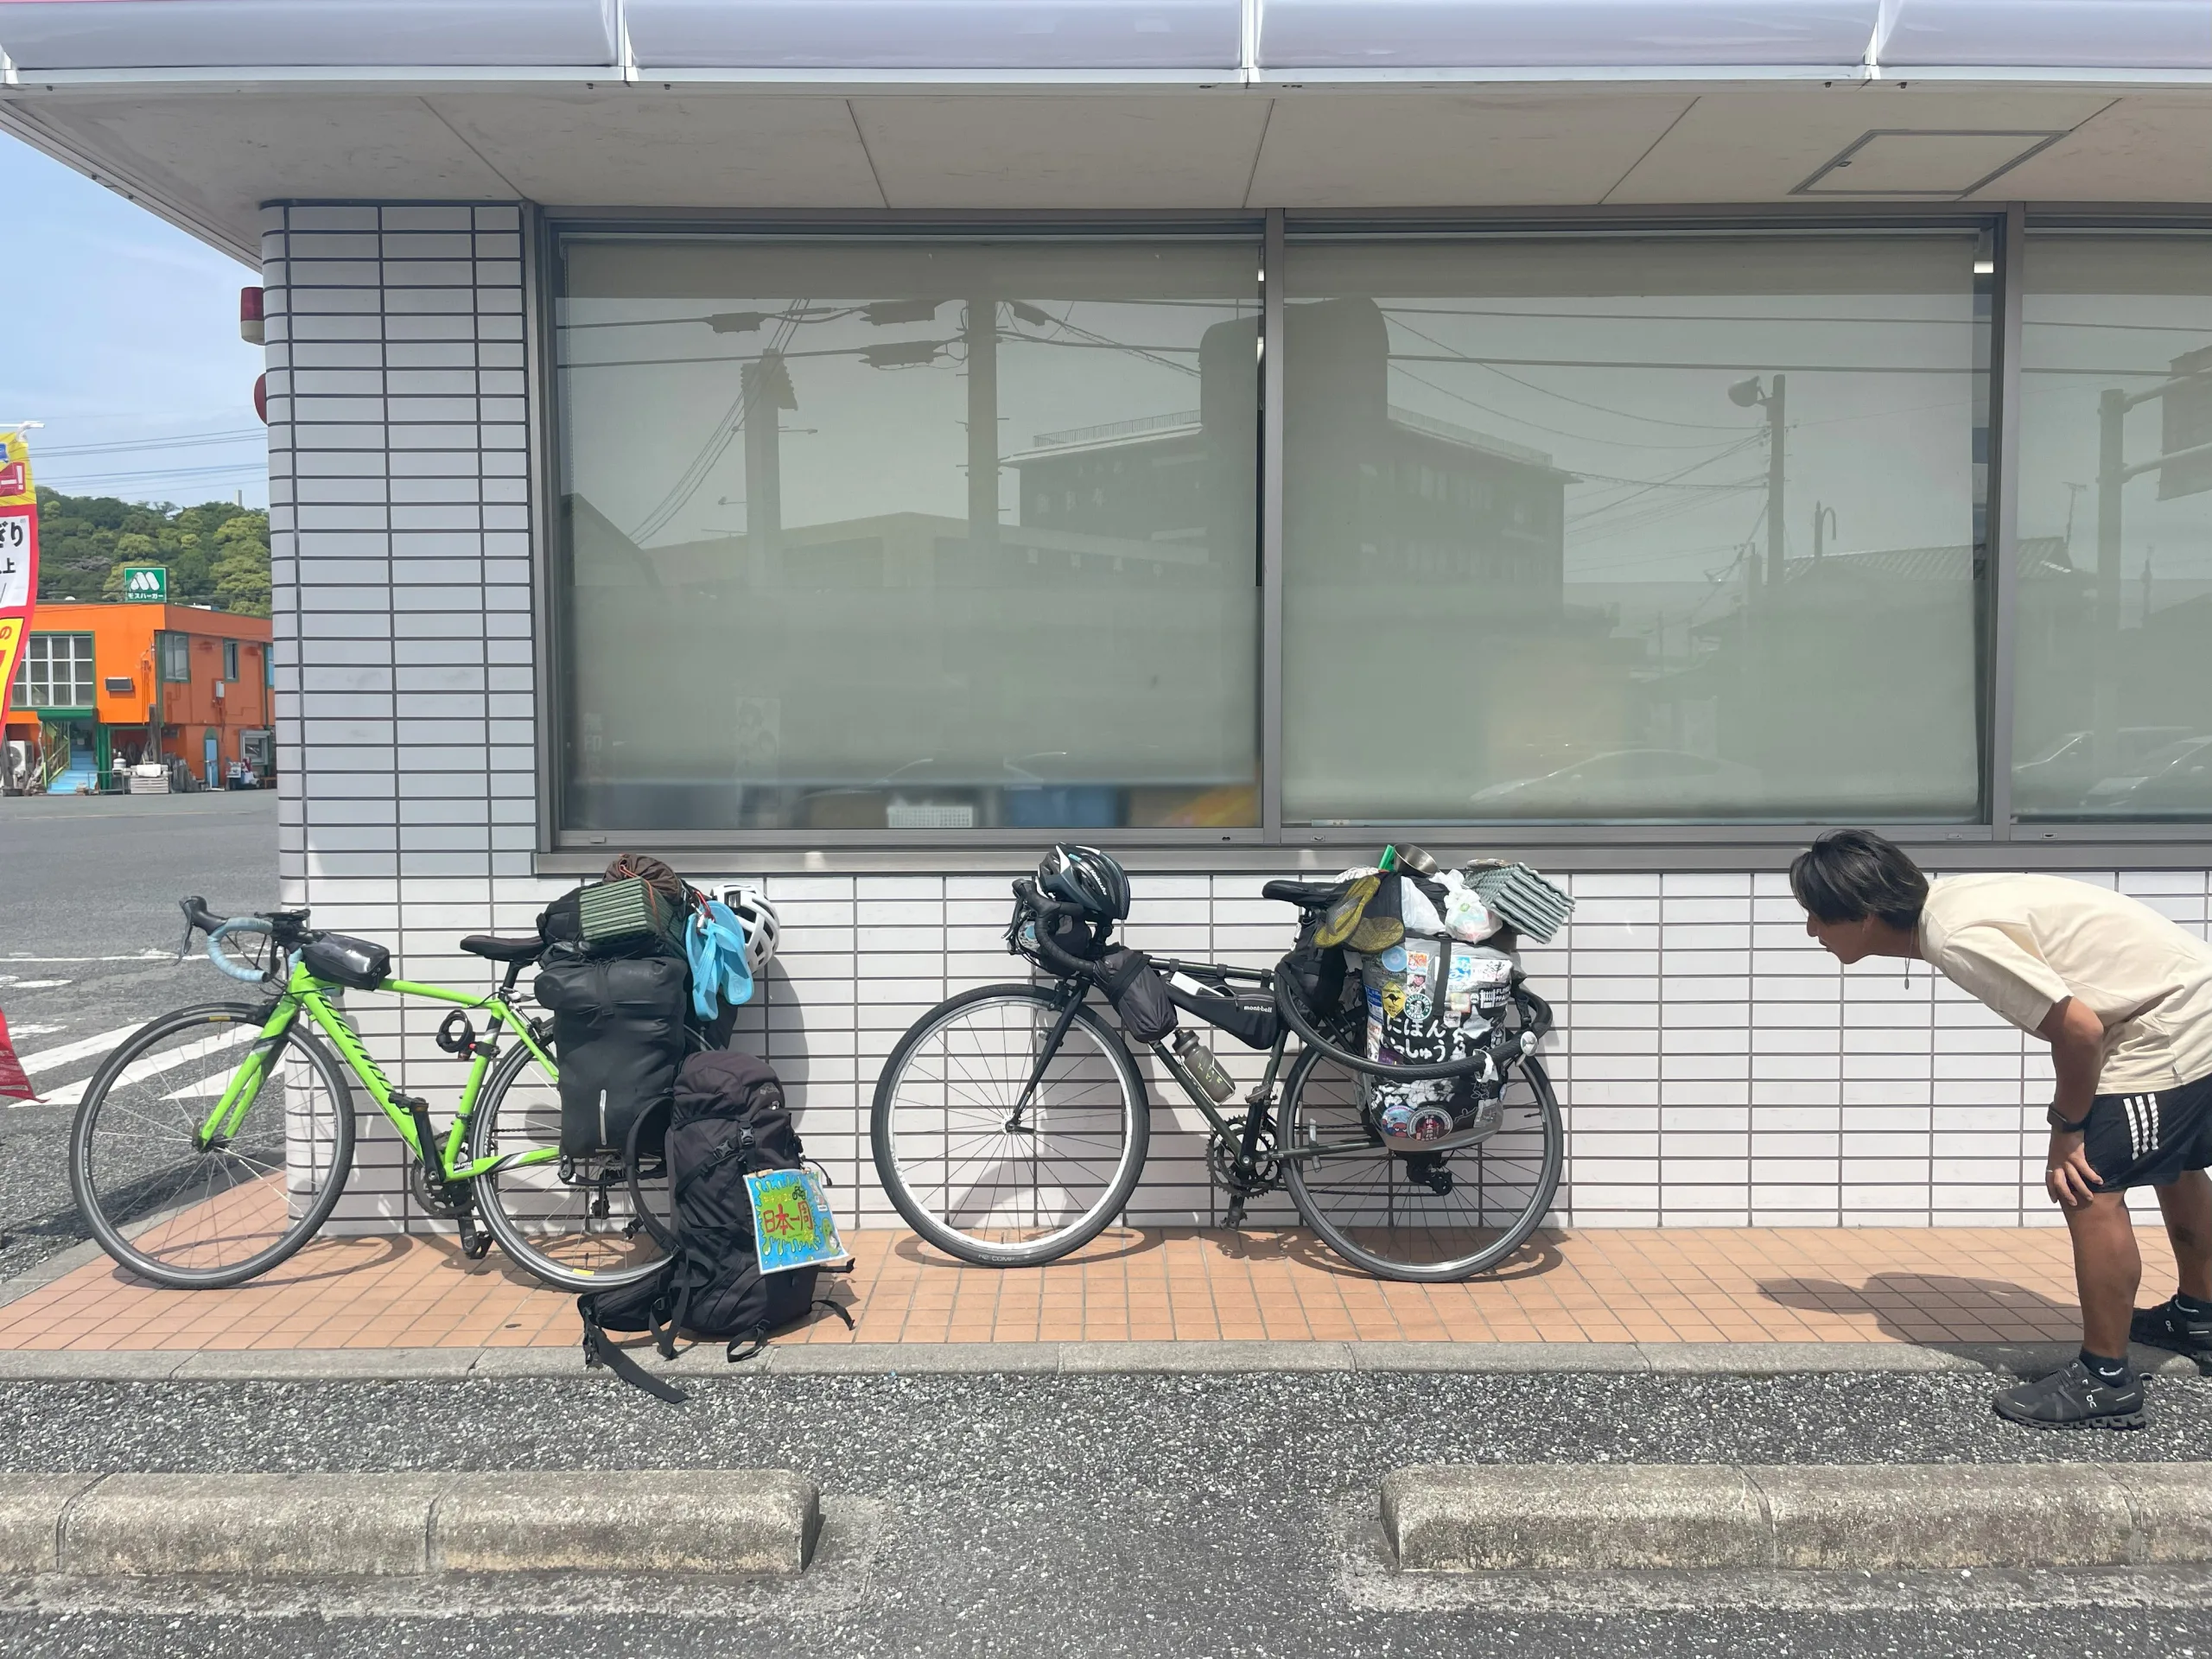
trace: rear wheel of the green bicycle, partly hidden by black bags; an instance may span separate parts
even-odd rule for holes
[[[560,1150],[560,1084],[520,1042],[484,1079],[467,1148],[471,1164]],[[509,1164],[473,1186],[478,1214],[500,1250],[557,1290],[633,1285],[668,1261],[635,1208],[619,1152]],[[646,1183],[646,1199],[668,1212],[666,1168]]]

